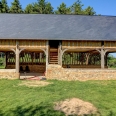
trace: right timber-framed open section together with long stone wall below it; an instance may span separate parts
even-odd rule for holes
[[[116,70],[108,69],[109,53],[116,52],[115,41],[69,41],[58,46],[58,64],[49,62],[48,79],[116,80]]]

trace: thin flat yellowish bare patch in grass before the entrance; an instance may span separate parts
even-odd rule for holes
[[[19,85],[20,86],[25,85],[28,87],[43,87],[43,86],[47,86],[49,84],[52,84],[52,83],[49,83],[46,81],[31,80],[31,81],[22,81],[22,83],[20,83]]]

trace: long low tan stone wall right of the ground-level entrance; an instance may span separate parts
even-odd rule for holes
[[[108,69],[71,69],[59,65],[48,65],[47,79],[58,80],[116,80],[116,70]]]

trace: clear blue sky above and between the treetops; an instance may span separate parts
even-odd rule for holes
[[[8,5],[14,0],[7,0]],[[19,0],[22,8],[24,9],[27,4],[37,2],[37,0]],[[116,16],[116,0],[80,0],[84,5],[83,8],[91,6],[94,8],[96,14]],[[50,2],[54,9],[64,2],[67,6],[71,6],[76,0],[46,0]]]

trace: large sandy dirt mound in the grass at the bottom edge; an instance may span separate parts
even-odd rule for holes
[[[97,108],[95,108],[94,105],[77,98],[66,99],[55,103],[54,109],[64,112],[66,116],[98,114]]]

